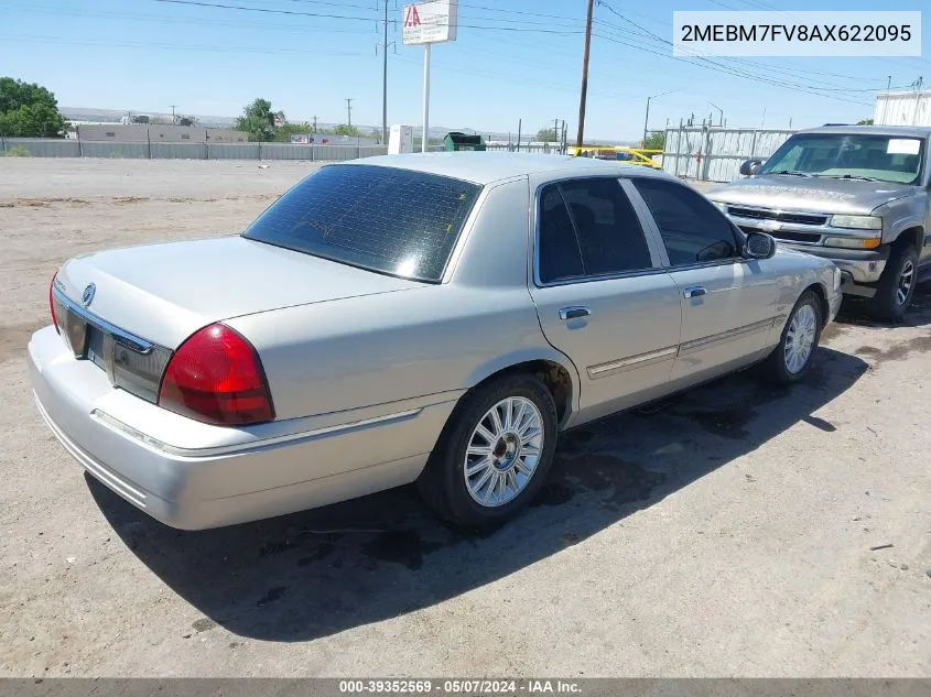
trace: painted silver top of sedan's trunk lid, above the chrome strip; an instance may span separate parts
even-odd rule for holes
[[[241,237],[170,242],[85,254],[57,287],[120,329],[169,349],[214,322],[422,285]]]

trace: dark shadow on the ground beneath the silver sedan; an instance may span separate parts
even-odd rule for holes
[[[533,504],[504,527],[468,534],[439,522],[413,487],[234,527],[178,532],[88,486],[126,545],[217,625],[302,641],[419,610],[523,569],[650,507],[813,414],[867,370],[819,350],[803,384],[753,370],[564,435]],[[747,472],[747,481],[753,475]]]

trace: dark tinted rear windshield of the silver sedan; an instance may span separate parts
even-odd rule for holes
[[[329,165],[243,232],[340,263],[436,282],[478,196],[469,182],[371,165]]]

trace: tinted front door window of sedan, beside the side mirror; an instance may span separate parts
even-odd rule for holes
[[[652,177],[631,179],[659,226],[673,266],[729,259],[738,253],[734,228],[701,194]]]

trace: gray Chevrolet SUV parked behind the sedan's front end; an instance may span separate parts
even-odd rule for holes
[[[745,232],[830,259],[847,295],[899,320],[931,277],[931,128],[826,126],[800,131],[746,178],[708,193]]]

